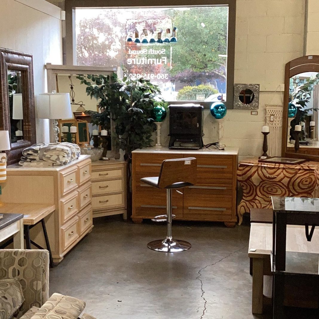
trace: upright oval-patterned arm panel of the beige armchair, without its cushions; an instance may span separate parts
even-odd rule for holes
[[[19,280],[25,302],[19,318],[49,297],[49,252],[45,249],[0,249],[0,279]]]

